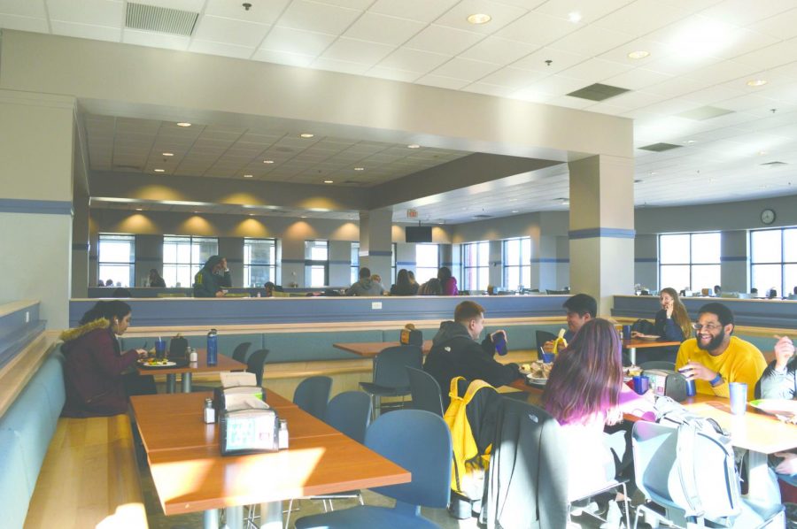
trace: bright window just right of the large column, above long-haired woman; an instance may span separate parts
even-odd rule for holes
[[[659,235],[659,288],[700,291],[720,284],[722,235]]]

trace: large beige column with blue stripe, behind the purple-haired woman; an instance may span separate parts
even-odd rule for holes
[[[592,295],[608,316],[614,295],[634,289],[633,159],[569,162],[570,290]]]

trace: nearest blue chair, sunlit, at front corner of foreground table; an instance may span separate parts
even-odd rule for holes
[[[451,433],[443,418],[422,410],[398,410],[377,418],[366,432],[366,446],[412,472],[409,483],[376,487],[396,506],[360,505],[298,518],[297,529],[416,529],[438,527],[421,516],[421,507],[443,509],[451,487]]]

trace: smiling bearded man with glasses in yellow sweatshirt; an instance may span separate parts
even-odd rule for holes
[[[747,384],[747,400],[767,367],[761,351],[733,334],[733,313],[722,303],[707,303],[693,325],[695,337],[678,349],[676,369],[694,380],[698,393],[729,397],[731,382]]]

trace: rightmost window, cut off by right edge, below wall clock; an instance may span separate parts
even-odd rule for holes
[[[797,287],[797,227],[750,232],[750,282],[758,295],[775,288],[787,296]]]

